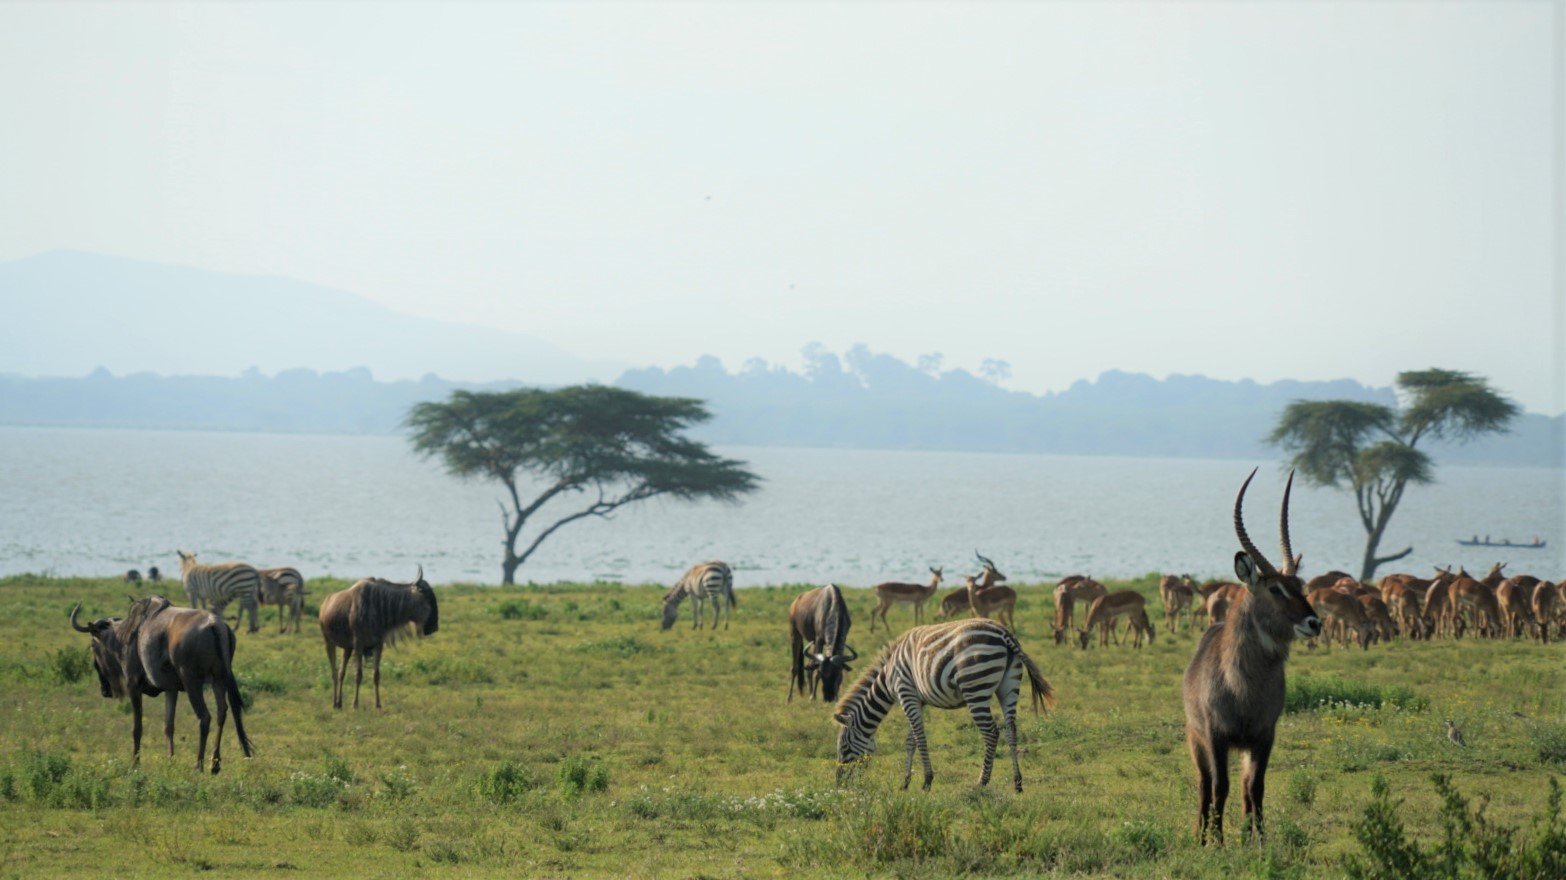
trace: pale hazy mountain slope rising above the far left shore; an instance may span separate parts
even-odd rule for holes
[[[537,337],[399,315],[290,279],[75,251],[0,263],[0,374],[238,376],[302,365],[368,368],[382,379],[545,384],[606,382],[628,366],[587,362]]]

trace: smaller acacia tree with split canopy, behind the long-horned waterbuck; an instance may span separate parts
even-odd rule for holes
[[[1517,415],[1489,382],[1456,370],[1398,373],[1397,393],[1402,412],[1356,401],[1295,401],[1267,437],[1294,453],[1290,463],[1308,482],[1355,493],[1366,529],[1361,581],[1414,551],[1377,556],[1403,490],[1434,481],[1434,462],[1417,443],[1425,437],[1463,443],[1506,431]]]

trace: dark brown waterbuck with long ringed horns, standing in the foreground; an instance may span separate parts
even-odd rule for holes
[[[1240,509],[1254,476],[1253,470],[1234,500],[1234,534],[1242,546],[1234,554],[1234,573],[1245,584],[1247,598],[1229,606],[1221,626],[1209,626],[1203,633],[1182,683],[1185,744],[1196,764],[1200,791],[1196,836],[1203,846],[1209,828],[1217,841],[1223,841],[1232,748],[1247,753],[1240,778],[1247,828],[1262,836],[1262,794],[1278,716],[1283,714],[1284,661],[1297,636],[1314,639],[1322,631],[1322,620],[1304,600],[1304,584],[1295,575],[1298,561],[1289,546],[1294,474],[1284,485],[1279,517],[1283,572],[1273,568],[1245,534]]]

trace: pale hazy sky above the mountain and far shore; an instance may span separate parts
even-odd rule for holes
[[[0,260],[637,365],[1445,366],[1557,413],[1558,9],[5,2]]]

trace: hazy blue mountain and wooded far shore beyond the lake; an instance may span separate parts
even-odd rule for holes
[[[410,371],[409,352],[428,370]],[[191,374],[213,365],[235,376]],[[283,279],[75,252],[0,263],[0,424],[390,434],[412,404],[456,388],[615,374],[625,388],[706,401],[714,418],[695,434],[720,445],[1275,457],[1264,437],[1290,401],[1397,402],[1391,388],[1347,379],[1262,385],[1120,371],[1030,395],[863,344],[841,357],[806,349],[802,373],[760,360],[730,373],[709,355],[620,371],[540,340],[396,315]],[[464,376],[518,380],[451,379]],[[1506,435],[1431,453],[1566,467],[1566,415],[1525,413]]]

